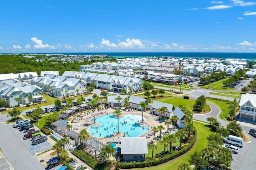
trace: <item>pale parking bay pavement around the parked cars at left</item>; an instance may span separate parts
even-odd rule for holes
[[[52,145],[50,145],[50,143],[48,143],[47,141],[38,145],[31,145],[32,138],[26,140],[23,139],[23,136],[26,134],[25,131],[19,131],[18,127],[13,128],[12,126],[8,126],[8,128],[10,128],[10,131],[12,131],[14,135],[16,135],[20,143],[23,144],[33,155],[52,148]]]

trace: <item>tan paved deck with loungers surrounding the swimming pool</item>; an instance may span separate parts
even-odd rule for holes
[[[124,107],[122,107],[122,109],[124,109]],[[95,118],[97,117],[100,117],[102,115],[106,115],[107,113],[110,114],[110,113],[113,113],[114,112],[114,109],[112,108],[109,108],[106,110],[106,113],[103,113],[103,114],[100,114],[100,115],[95,115]],[[98,111],[95,111],[95,114],[96,113],[99,113]],[[125,114],[136,114],[136,115],[141,115],[142,116],[142,111],[124,111],[122,110],[122,113],[125,115]],[[164,127],[164,130],[162,130],[162,133],[167,131],[167,125],[164,124],[164,122],[162,123],[159,123],[159,121],[155,120],[156,116],[155,115],[151,115],[149,114],[149,111],[144,111],[143,112],[143,117],[146,118],[146,126],[149,126],[149,127],[157,127],[159,125],[162,125]],[[76,131],[80,132],[82,129],[87,129],[88,127],[90,127],[92,125],[92,122],[90,121],[90,119],[92,119],[93,117],[91,118],[88,118],[88,119],[82,119],[80,121],[78,121],[77,123],[71,123],[71,121],[69,121],[68,123],[72,125],[72,127],[75,127],[76,124],[80,124],[80,128],[79,129],[76,129]],[[169,128],[172,128],[172,125],[169,125]],[[140,135],[139,137],[143,137],[144,135],[147,135],[148,133],[150,133],[152,130],[150,131],[147,131],[146,133],[143,133],[142,135]],[[157,132],[155,137],[160,135],[160,132]],[[123,137],[123,133],[120,137]],[[150,137],[147,137],[147,142],[150,142],[153,140],[153,136],[150,136]],[[93,137],[93,136],[92,136]],[[127,136],[126,136],[127,137]],[[116,140],[119,140],[118,139],[118,136],[114,136],[114,137],[109,137],[109,138],[97,138],[97,137],[94,137],[95,139],[101,141],[102,143],[107,143],[107,141],[116,141]],[[117,144],[116,147],[120,147],[121,144]]]

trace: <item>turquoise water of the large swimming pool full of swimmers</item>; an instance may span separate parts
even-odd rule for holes
[[[119,117],[119,132],[125,133],[126,137],[138,137],[149,131],[151,127],[141,127],[135,124],[140,120],[142,120],[142,116],[140,115],[128,114],[123,117]],[[144,118],[144,120],[146,119]],[[93,121],[93,119],[90,119],[90,121]],[[124,123],[124,121],[127,123]],[[88,132],[94,137],[107,138],[114,132],[118,132],[117,118],[112,114],[98,117],[95,119],[95,122],[101,123],[101,126],[88,128]]]

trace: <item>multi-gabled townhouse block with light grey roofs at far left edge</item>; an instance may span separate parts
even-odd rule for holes
[[[17,79],[0,81],[0,99],[5,100],[8,107],[22,106],[30,102],[41,102],[41,92],[42,90],[37,86],[31,86]],[[28,99],[28,96],[32,96],[33,99]],[[16,98],[20,98],[20,100],[16,101]]]

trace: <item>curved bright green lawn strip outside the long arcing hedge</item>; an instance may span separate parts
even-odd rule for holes
[[[196,140],[194,147],[190,151],[188,151],[185,155],[180,156],[179,158],[176,158],[175,160],[171,160],[168,163],[164,163],[164,164],[161,164],[158,166],[139,168],[139,169],[134,169],[134,170],[142,170],[142,169],[146,169],[146,170],[176,170],[176,169],[178,169],[178,165],[181,162],[188,162],[188,159],[190,158],[190,156],[192,155],[192,153],[194,151],[202,150],[207,146],[206,137],[212,133],[210,131],[210,129],[208,127],[206,127],[206,125],[203,123],[194,121],[194,126],[196,127],[196,130],[197,130],[197,140]],[[151,155],[152,155],[152,152],[151,152]]]

